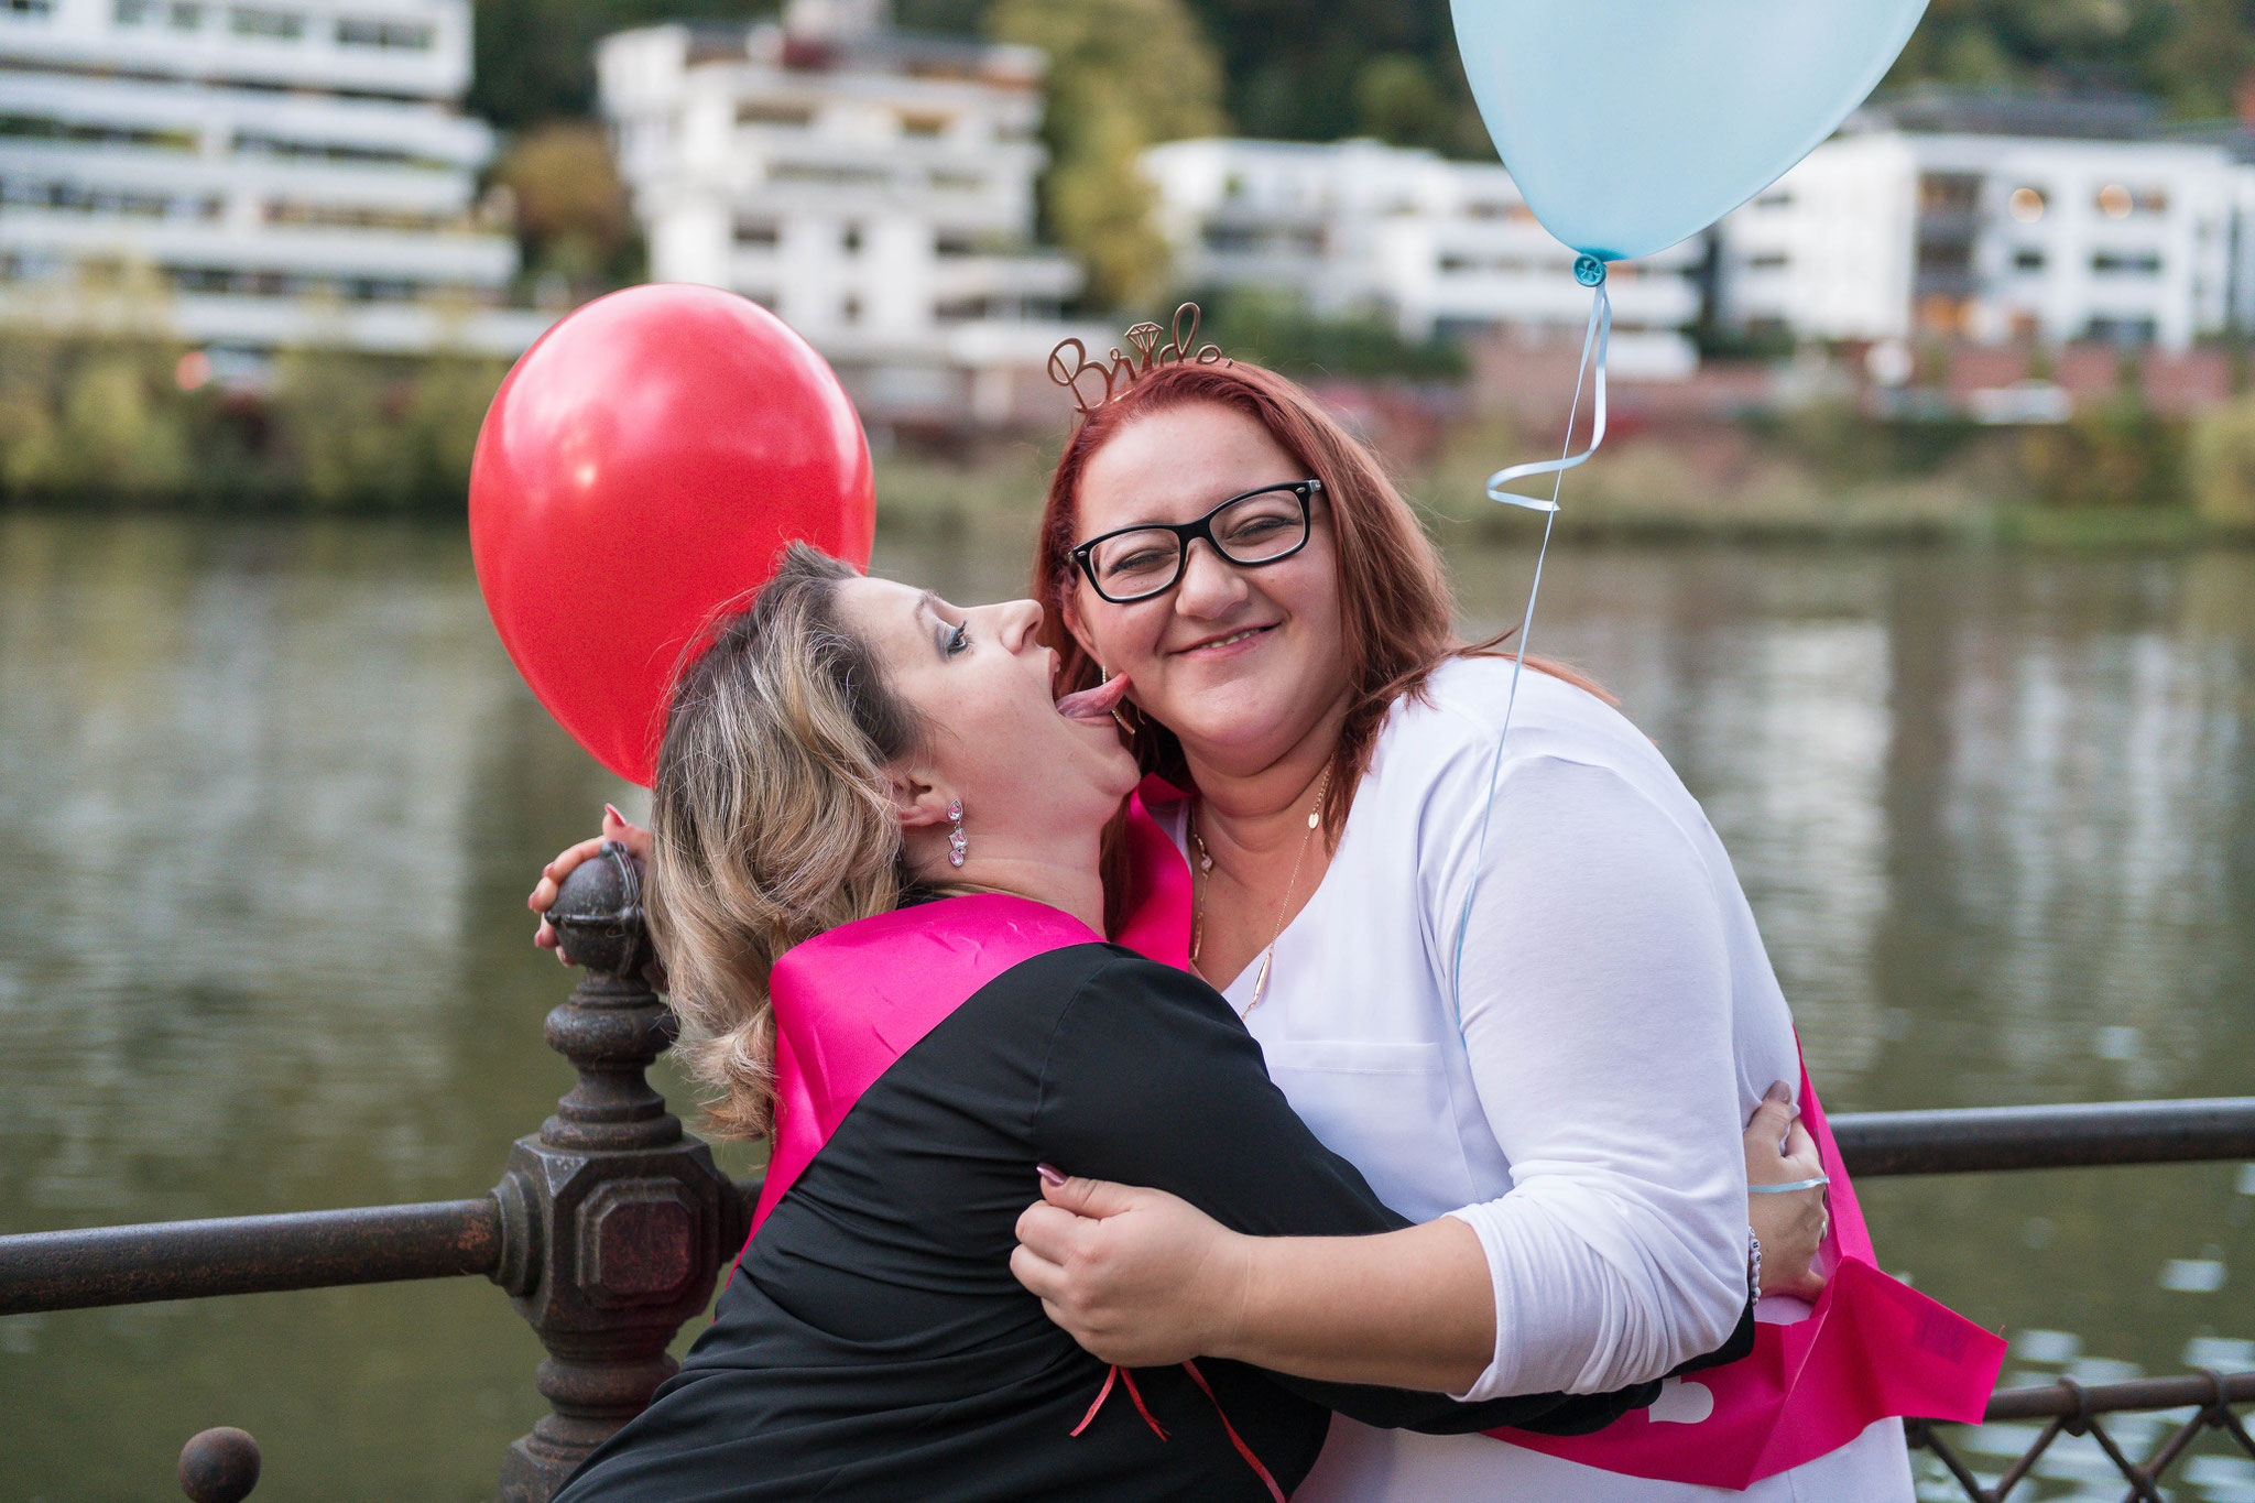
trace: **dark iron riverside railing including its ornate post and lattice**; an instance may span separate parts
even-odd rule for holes
[[[665,1348],[706,1309],[760,1194],[758,1181],[731,1183],[645,1079],[672,1046],[672,1014],[643,976],[634,865],[622,854],[582,865],[550,919],[586,967],[546,1025],[580,1079],[541,1131],[510,1149],[485,1197],[0,1237],[0,1316],[485,1275],[548,1348],[534,1384],[552,1406],[503,1458],[498,1498],[546,1503],[672,1375]],[[1863,1113],[1831,1127],[1860,1179],[2255,1158],[2255,1097]],[[1989,1420],[2050,1426],[1989,1489],[1933,1424],[1912,1422],[1910,1438],[1966,1498],[2000,1503],[2061,1433],[2088,1433],[2115,1458],[2102,1413],[2196,1406],[2147,1460],[2117,1456],[2129,1498],[2160,1503],[2156,1478],[2201,1433],[2255,1456],[2232,1413],[2250,1399],[2255,1372],[2000,1390]],[[180,1487],[196,1503],[237,1503],[257,1471],[257,1444],[232,1429],[194,1435],[180,1453]]]

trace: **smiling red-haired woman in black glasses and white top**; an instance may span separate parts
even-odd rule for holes
[[[1249,1237],[1080,1174],[1019,1221],[1019,1280],[1128,1368],[1209,1354],[1463,1399],[1666,1375],[1730,1334],[1750,1257],[1759,1316],[1809,1318],[1822,1275],[1779,1278],[1759,1244],[1795,1219],[1820,1235],[1824,1170],[1806,1136],[1790,1158],[1741,1140],[1802,1095],[1793,1019],[1651,739],[1572,672],[1466,644],[1409,507],[1294,383],[1170,363],[1107,397],[1040,523],[1060,687],[1125,681],[1141,802],[1191,881],[1188,967],[1418,1226]],[[1114,901],[1139,881],[1130,845]],[[1779,1228],[1754,1246],[1750,1174],[1752,1219]],[[1578,1451],[1342,1420],[1297,1496],[1741,1496],[1712,1480],[1709,1417],[1804,1451],[1736,1476],[1745,1496],[1912,1496],[1894,1415],[1919,1395],[1845,1372],[1799,1397],[1797,1429],[1739,1399],[1682,1384],[1624,1420],[1635,1444]]]

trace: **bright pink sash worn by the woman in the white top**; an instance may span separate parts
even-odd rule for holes
[[[1134,949],[1186,967],[1191,863],[1150,820],[1143,795],[1182,798],[1146,777],[1130,816],[1134,917],[1121,928]],[[1137,825],[1141,822],[1141,825]],[[1146,865],[1148,863],[1148,865]],[[1173,944],[1161,944],[1166,926]],[[1624,1476],[1703,1487],[1750,1487],[1894,1415],[1980,1420],[2005,1361],[2005,1341],[1910,1284],[1878,1271],[1840,1145],[1802,1068],[1802,1122],[1831,1176],[1831,1233],[1822,1269],[1831,1278],[1806,1320],[1754,1325],[1741,1361],[1669,1379],[1657,1404],[1621,1415],[1592,1435],[1491,1431],[1531,1451]]]

